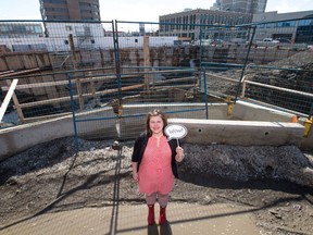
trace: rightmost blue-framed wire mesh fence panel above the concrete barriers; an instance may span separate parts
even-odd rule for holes
[[[209,94],[312,115],[312,18],[202,32]],[[216,39],[218,38],[218,39]],[[214,51],[212,50],[214,47]],[[211,58],[210,58],[211,54]],[[209,57],[208,57],[209,55]]]

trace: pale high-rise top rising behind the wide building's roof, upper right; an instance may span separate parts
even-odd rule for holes
[[[221,11],[258,14],[265,12],[267,0],[216,0]]]

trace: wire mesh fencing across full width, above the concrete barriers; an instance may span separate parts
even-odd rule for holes
[[[186,27],[1,21],[1,127],[105,107],[114,112],[102,118],[114,120],[127,116],[125,104],[208,103],[210,97],[311,115],[312,21]],[[199,37],[165,35],[171,28],[193,28]]]

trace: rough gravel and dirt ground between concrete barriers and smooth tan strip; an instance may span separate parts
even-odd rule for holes
[[[76,156],[73,138],[62,138],[0,162],[0,225],[48,211],[143,203],[132,180],[133,144],[79,140]],[[245,205],[265,234],[313,234],[312,153],[293,146],[184,148],[171,201]]]

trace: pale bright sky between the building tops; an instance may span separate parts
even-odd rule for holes
[[[23,3],[22,3],[23,2]],[[159,22],[184,9],[210,9],[215,0],[100,0],[102,21]],[[313,0],[267,0],[266,12],[313,10]],[[41,20],[39,0],[0,0],[0,20]]]

